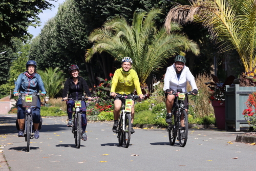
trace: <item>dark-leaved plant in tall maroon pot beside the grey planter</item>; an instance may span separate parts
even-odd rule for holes
[[[225,129],[225,86],[231,85],[234,80],[234,76],[230,75],[226,78],[224,83],[221,83],[217,76],[211,74],[212,80],[214,82],[206,82],[205,84],[212,91],[209,96],[211,105],[214,108],[214,114],[216,118],[217,127],[220,130]]]

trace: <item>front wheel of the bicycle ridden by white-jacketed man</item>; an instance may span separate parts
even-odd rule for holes
[[[181,126],[181,116],[183,115],[184,118],[184,128]],[[187,143],[187,134],[188,134],[188,119],[187,119],[187,112],[185,110],[181,111],[181,115],[179,117],[179,131],[178,131],[178,137],[179,137],[179,143],[181,147],[184,147]]]

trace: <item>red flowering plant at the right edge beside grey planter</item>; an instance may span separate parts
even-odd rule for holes
[[[253,127],[254,131],[256,130],[256,92],[250,94],[245,103],[248,109],[243,111],[243,115],[249,126]]]

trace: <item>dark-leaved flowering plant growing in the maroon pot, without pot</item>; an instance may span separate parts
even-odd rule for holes
[[[224,83],[220,83],[218,77],[213,74],[211,74],[211,77],[214,82],[205,83],[206,85],[210,84],[208,88],[210,88],[210,91],[212,92],[209,96],[209,102],[219,101],[220,104],[223,104],[223,102],[225,101],[225,86],[230,86],[233,83],[234,76],[228,76]]]

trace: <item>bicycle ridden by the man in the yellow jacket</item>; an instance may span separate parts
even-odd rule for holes
[[[117,126],[117,138],[120,146],[124,146],[125,148],[129,147],[131,140],[131,131],[132,131],[132,123],[131,123],[131,112],[132,112],[132,99],[136,100],[139,96],[127,97],[125,94],[116,95],[116,97],[122,98],[122,107],[120,109],[121,114],[118,120]]]

